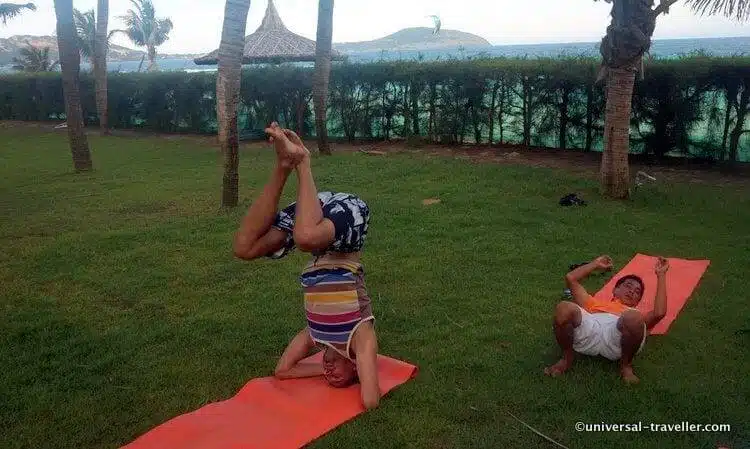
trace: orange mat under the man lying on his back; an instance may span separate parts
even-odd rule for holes
[[[601,290],[594,296],[600,299],[611,299],[612,289],[618,279],[628,274],[635,274],[643,279],[646,284],[646,290],[643,292],[643,299],[638,304],[638,310],[648,313],[654,308],[656,299],[656,257],[636,254],[636,256],[620,270]],[[686,260],[672,259],[669,260],[669,271],[667,272],[667,315],[651,330],[651,335],[666,334],[669,326],[677,318],[690,295],[698,286],[706,269],[708,269],[709,260]]]

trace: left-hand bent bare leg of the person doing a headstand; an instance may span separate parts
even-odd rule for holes
[[[284,185],[291,170],[277,165],[263,192],[242,220],[234,238],[234,255],[240,259],[255,259],[276,251],[284,243],[286,233],[271,228]]]

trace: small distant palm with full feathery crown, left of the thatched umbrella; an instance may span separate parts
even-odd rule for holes
[[[127,14],[120,16],[125,22],[124,30],[116,32],[124,33],[139,47],[146,47],[148,51],[148,70],[156,70],[156,47],[169,40],[169,33],[174,25],[170,19],[157,19],[156,9],[151,0],[130,0],[133,9]]]

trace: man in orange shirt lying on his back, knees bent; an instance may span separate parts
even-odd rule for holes
[[[574,302],[563,301],[555,310],[555,338],[563,350],[563,357],[544,370],[547,375],[563,374],[573,364],[574,354],[579,353],[619,360],[623,380],[638,382],[633,373],[633,357],[646,343],[648,331],[667,313],[669,262],[664,258],[656,262],[656,300],[654,309],[645,315],[636,309],[644,290],[643,280],[638,276],[619,279],[609,301],[592,297],[581,285],[580,281],[594,271],[610,268],[612,259],[601,256],[565,276]]]

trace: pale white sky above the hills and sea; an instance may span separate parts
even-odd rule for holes
[[[26,3],[28,0],[4,0]],[[27,11],[0,24],[0,37],[55,34],[53,0],[36,0],[37,11]],[[224,2],[218,0],[153,0],[158,17],[174,22],[162,54],[200,54],[216,49],[221,39]],[[275,0],[287,28],[315,39],[315,0]],[[676,3],[657,21],[655,39],[750,36],[750,23],[721,16],[697,16]],[[268,0],[251,0],[246,34],[260,25]],[[94,9],[96,0],[73,0],[80,10]],[[119,28],[118,16],[131,7],[129,0],[110,0],[109,28]],[[598,42],[609,24],[611,5],[593,0],[336,0],[333,41],[377,39],[402,28],[432,26],[428,16],[440,16],[443,29],[484,37],[492,44]],[[133,48],[122,36],[114,43]]]

